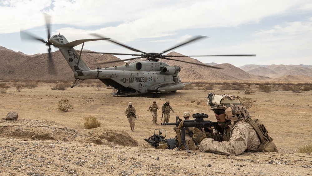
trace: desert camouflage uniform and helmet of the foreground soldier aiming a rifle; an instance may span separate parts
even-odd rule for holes
[[[199,145],[202,152],[239,155],[259,148],[260,139],[254,128],[245,122],[244,119],[250,116],[247,109],[238,101],[237,96],[213,95],[208,103],[211,110],[224,110],[226,121],[219,122],[220,127],[213,134],[213,138],[202,139]],[[195,139],[196,136],[197,134],[194,133],[193,138]]]

